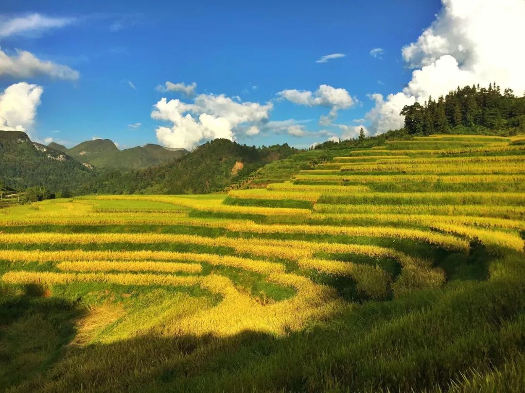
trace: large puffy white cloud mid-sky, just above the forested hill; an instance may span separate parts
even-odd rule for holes
[[[236,102],[224,94],[200,94],[190,104],[163,98],[154,105],[151,117],[172,123],[156,129],[160,143],[192,149],[206,139],[258,134],[258,125],[268,121],[272,108],[271,102],[261,105]]]

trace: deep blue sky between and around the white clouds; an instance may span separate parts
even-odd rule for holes
[[[261,132],[234,131],[235,138],[248,145],[288,142],[308,147],[340,135],[339,124],[366,127],[368,122],[354,119],[364,118],[374,107],[367,94],[395,93],[411,80],[401,49],[417,40],[441,8],[439,1],[415,0],[2,3],[4,23],[33,14],[69,20],[62,27],[0,38],[8,56],[15,56],[16,49],[28,51],[80,75],[64,80],[43,73],[26,78],[0,73],[1,91],[18,82],[43,88],[27,127],[30,135],[68,145],[98,136],[121,148],[157,143],[155,129],[171,127],[169,121],[151,117],[162,97],[192,103],[194,97],[155,89],[166,81],[196,82],[196,94],[238,96],[236,102],[271,101],[268,118],[257,125]],[[382,49],[375,57],[370,54],[374,48]],[[345,57],[316,62],[333,53]],[[345,89],[354,99],[351,107],[337,111],[330,125],[319,124],[329,105],[298,105],[277,95],[297,89],[315,96],[323,84]],[[300,136],[265,129],[267,121],[288,119],[301,125],[302,132],[295,133]],[[129,126],[136,123],[141,125]],[[325,134],[318,134],[320,130]]]

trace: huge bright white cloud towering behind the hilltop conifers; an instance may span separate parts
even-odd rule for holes
[[[403,126],[404,105],[423,103],[473,83],[496,81],[502,88],[525,90],[525,52],[513,38],[525,37],[523,0],[442,0],[443,7],[415,42],[402,50],[412,80],[402,92],[383,99],[373,94],[367,113],[375,133]],[[488,27],[489,26],[489,27]]]

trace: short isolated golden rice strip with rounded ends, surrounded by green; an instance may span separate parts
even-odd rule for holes
[[[153,261],[108,261],[108,260],[82,260],[66,261],[57,265],[60,270],[67,271],[157,271],[157,272],[185,272],[200,273],[202,266],[198,264],[184,264],[176,262]]]

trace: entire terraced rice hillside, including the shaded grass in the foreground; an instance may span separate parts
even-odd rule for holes
[[[520,138],[394,141],[265,189],[0,210],[0,385],[525,389]]]

